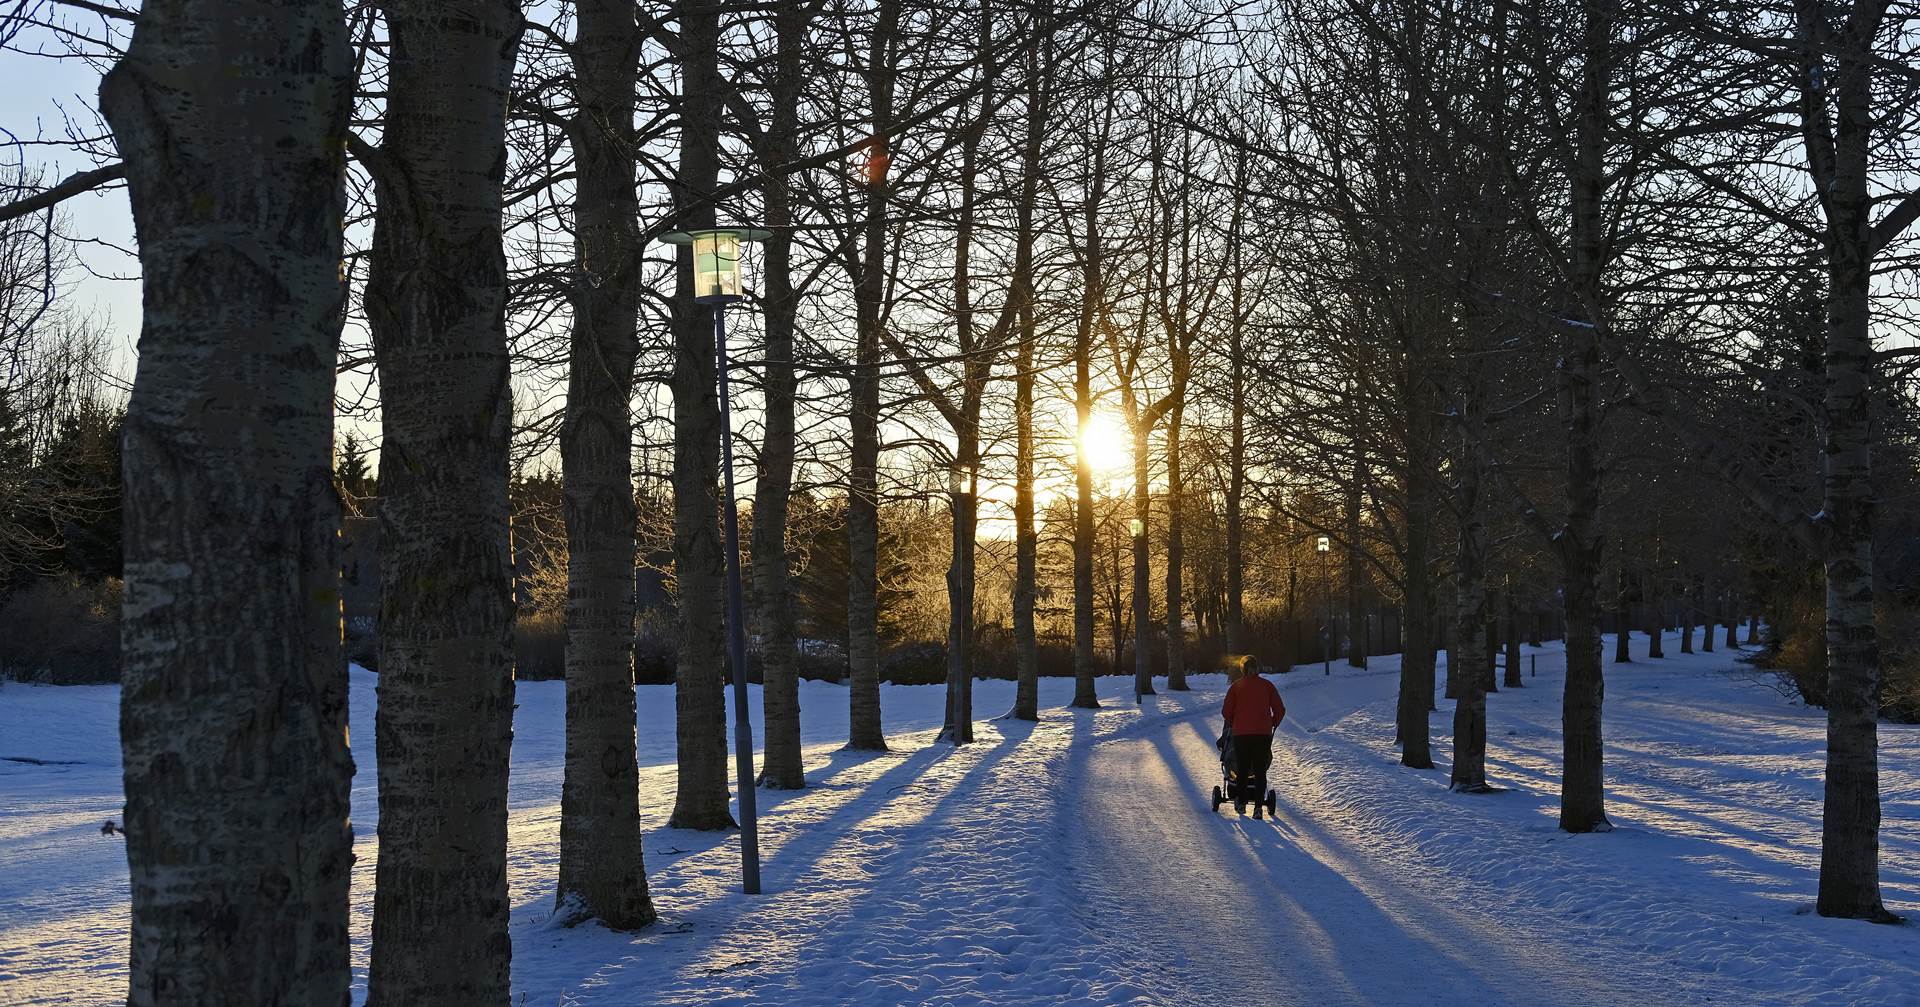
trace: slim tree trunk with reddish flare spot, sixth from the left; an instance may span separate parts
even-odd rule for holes
[[[874,117],[868,158],[860,279],[854,284],[854,369],[849,400],[847,467],[847,748],[885,751],[879,721],[879,329],[887,290],[887,140],[893,123],[893,42],[899,0],[881,0],[868,48],[866,83]]]

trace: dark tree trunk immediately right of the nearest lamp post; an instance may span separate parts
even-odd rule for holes
[[[632,8],[628,8],[632,10]],[[780,37],[774,79],[768,88],[764,163],[799,160],[799,102],[804,86],[801,60],[806,52],[810,8],[783,4],[774,13]],[[762,384],[760,465],[753,484],[753,592],[760,617],[760,711],[766,751],[760,786],[801,790],[801,669],[799,630],[791,602],[787,559],[787,498],[793,492],[793,327],[799,292],[793,288],[793,198],[787,175],[768,175],[760,186],[766,202],[766,377]]]

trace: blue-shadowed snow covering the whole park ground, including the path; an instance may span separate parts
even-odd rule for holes
[[[1642,638],[1644,642],[1644,638]],[[1667,651],[1674,653],[1676,642]],[[1611,646],[1607,648],[1611,653]],[[1636,644],[1636,655],[1644,653]],[[1536,651],[1528,648],[1528,657]],[[660,924],[547,926],[559,682],[515,715],[515,988],[584,1003],[1920,1003],[1920,928],[1812,915],[1824,717],[1715,655],[1607,665],[1609,834],[1555,823],[1561,655],[1490,698],[1488,773],[1398,767],[1396,659],[1277,678],[1277,821],[1213,815],[1223,680],[1100,711],[1043,682],[1039,725],[933,742],[935,686],[883,694],[893,753],[837,751],[839,686],[803,684],[804,792],[760,792],[766,896],[732,836],[664,828],[672,692],[641,688],[641,801]],[[355,969],[372,859],[372,676],[353,673]],[[975,709],[1012,703],[981,682]],[[758,707],[758,698],[755,698]],[[0,688],[0,1003],[125,984],[117,694]],[[1432,715],[1448,759],[1450,703]],[[1920,913],[1920,728],[1882,726],[1882,884]],[[365,995],[365,988],[357,988]],[[516,995],[516,1001],[522,999]]]

